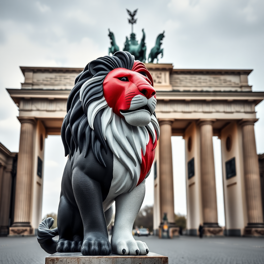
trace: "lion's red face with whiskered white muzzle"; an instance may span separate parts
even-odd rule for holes
[[[142,65],[144,67],[144,64],[141,64],[139,70],[143,69]],[[156,107],[156,92],[152,86],[150,73],[144,67],[143,74],[146,75],[144,76],[133,71],[133,68],[132,70],[114,69],[107,74],[103,82],[103,95],[107,104],[116,115],[123,118],[124,113],[143,109],[151,115]]]

